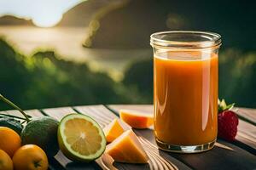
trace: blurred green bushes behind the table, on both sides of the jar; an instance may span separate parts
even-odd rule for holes
[[[0,40],[0,90],[24,109],[64,105],[153,103],[153,62],[131,64],[122,82],[52,51],[20,54]],[[256,52],[230,48],[219,58],[219,97],[256,108]],[[9,109],[0,103],[0,110]]]

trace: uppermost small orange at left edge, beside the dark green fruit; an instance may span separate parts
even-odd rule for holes
[[[20,148],[20,136],[9,127],[0,127],[0,150],[4,150],[10,157]]]

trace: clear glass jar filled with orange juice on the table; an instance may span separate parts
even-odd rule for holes
[[[217,138],[220,36],[202,31],[151,35],[154,136],[161,150],[210,150]]]

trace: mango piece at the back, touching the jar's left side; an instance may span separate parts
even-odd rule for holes
[[[153,115],[141,111],[120,110],[119,116],[122,121],[134,128],[148,128],[154,122]]]

